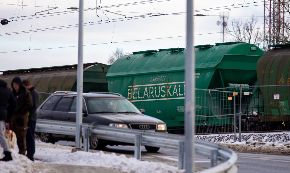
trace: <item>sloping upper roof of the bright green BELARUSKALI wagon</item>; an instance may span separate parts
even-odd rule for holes
[[[216,68],[251,68],[255,70],[255,62],[252,62],[250,58],[245,58],[245,55],[260,57],[264,53],[257,46],[242,42],[217,43],[216,46],[210,47],[207,45],[207,49],[204,49],[205,47],[205,45],[200,45],[195,48],[196,70]],[[251,47],[257,47],[257,50],[251,50]],[[106,78],[184,70],[185,56],[183,54],[186,53],[186,49],[170,53],[165,51],[174,49],[177,48],[160,49],[159,52],[154,54],[145,54],[144,52],[146,51],[141,51],[143,53],[133,52],[134,54],[129,56],[129,58],[128,56],[127,58],[123,56],[112,64]],[[238,55],[238,58],[232,55]],[[244,64],[241,66],[238,62],[243,62]],[[230,65],[227,67],[227,64]]]

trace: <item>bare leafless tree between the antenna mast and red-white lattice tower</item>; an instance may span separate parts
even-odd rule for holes
[[[258,19],[252,16],[250,19],[242,22],[241,19],[234,19],[232,21],[233,31],[229,32],[233,36],[231,41],[241,41],[245,43],[260,43],[261,32],[255,29]]]

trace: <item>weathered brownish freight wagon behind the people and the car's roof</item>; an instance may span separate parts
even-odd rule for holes
[[[83,64],[83,92],[108,92],[106,74],[109,65]],[[0,79],[10,86],[14,77],[28,79],[39,92],[77,91],[77,65],[1,71]]]

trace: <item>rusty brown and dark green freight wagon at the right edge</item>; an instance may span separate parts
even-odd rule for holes
[[[271,47],[257,62],[261,94],[253,98],[258,104],[248,113],[245,130],[290,128],[290,44]]]

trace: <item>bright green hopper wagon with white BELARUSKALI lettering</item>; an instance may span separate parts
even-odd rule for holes
[[[242,42],[195,46],[196,88],[253,85],[257,82],[256,64],[264,52],[253,44]],[[126,97],[146,114],[167,123],[170,132],[183,133],[185,98],[184,48],[133,52],[117,59],[106,78],[109,92]],[[244,88],[246,89],[246,88]],[[196,93],[199,97],[199,93]],[[213,99],[196,101],[196,125],[231,124],[232,118],[213,115],[228,114]],[[211,97],[214,97],[211,95]]]

